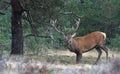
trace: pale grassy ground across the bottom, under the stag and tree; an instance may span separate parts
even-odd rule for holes
[[[109,61],[106,61],[105,53],[102,53],[101,60],[94,65],[96,51],[84,53],[79,64],[75,63],[75,54],[68,50],[40,51],[37,55],[3,55],[0,74],[110,74],[112,60],[117,56],[119,52],[109,51]]]

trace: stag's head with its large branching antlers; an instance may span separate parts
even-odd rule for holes
[[[56,30],[57,32],[59,32],[60,34],[62,34],[62,35],[64,36],[66,42],[70,44],[71,41],[72,41],[72,39],[73,39],[73,37],[76,35],[75,32],[76,32],[77,29],[79,28],[80,19],[76,20],[76,28],[73,28],[73,27],[72,27],[72,31],[71,31],[69,34],[66,34],[66,33],[63,32],[62,30],[60,30],[60,26],[57,26],[57,25],[56,25],[56,22],[57,22],[57,20],[54,20],[54,21],[51,20],[51,21],[50,21],[51,25],[55,28],[55,30]]]

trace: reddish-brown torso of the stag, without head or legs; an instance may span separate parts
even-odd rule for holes
[[[103,46],[105,38],[106,35],[103,32],[92,32],[83,37],[73,38],[71,41],[72,47],[68,46],[68,48],[77,49],[77,51],[84,53],[95,48],[95,46]]]

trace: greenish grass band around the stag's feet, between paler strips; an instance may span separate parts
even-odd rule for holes
[[[32,55],[32,56],[25,56],[26,59],[35,59],[35,60],[46,60],[49,63],[61,63],[61,64],[76,64],[76,56],[68,56],[68,55],[43,55],[43,56],[38,56],[38,55]],[[97,57],[93,56],[83,56],[81,58],[81,63],[82,64],[94,64],[96,61]],[[101,57],[100,62],[103,62],[106,58]]]

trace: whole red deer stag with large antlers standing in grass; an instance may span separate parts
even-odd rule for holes
[[[82,37],[73,38],[79,27],[80,19],[76,21],[76,28],[73,29],[69,34],[65,34],[63,31],[61,31],[60,28],[56,26],[56,21],[51,20],[50,23],[55,28],[55,30],[57,30],[65,37],[67,48],[76,54],[76,63],[80,62],[82,53],[88,52],[94,48],[98,52],[98,58],[95,64],[97,64],[98,60],[100,59],[102,50],[105,51],[106,59],[108,59],[108,49],[104,46],[104,41],[106,39],[106,34],[104,32],[95,31]]]

